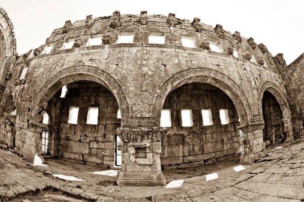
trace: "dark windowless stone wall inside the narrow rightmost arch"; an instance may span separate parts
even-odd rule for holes
[[[274,143],[275,140],[281,137],[284,138],[284,123],[282,121],[283,117],[280,105],[275,96],[268,91],[264,92],[262,109],[265,123],[263,139],[270,140],[271,143]]]

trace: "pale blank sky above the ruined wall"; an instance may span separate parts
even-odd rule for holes
[[[89,1],[89,0],[1,0],[11,18],[19,55],[45,44],[46,39],[66,20],[71,22],[108,16],[116,10],[121,14],[175,13],[177,18],[212,25],[221,24],[225,30],[254,38],[267,46],[273,56],[283,53],[287,65],[304,52],[303,0],[209,0],[209,1]]]

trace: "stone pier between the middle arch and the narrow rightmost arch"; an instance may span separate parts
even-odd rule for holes
[[[265,157],[263,152],[265,149],[265,143],[263,142],[263,127],[263,123],[258,123],[239,128],[244,133],[243,154],[240,160],[241,164],[253,164],[256,160]]]

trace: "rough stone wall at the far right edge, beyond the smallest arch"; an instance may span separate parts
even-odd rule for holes
[[[304,136],[304,53],[282,71],[295,137]]]

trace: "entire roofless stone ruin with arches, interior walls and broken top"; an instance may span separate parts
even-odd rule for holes
[[[26,161],[118,168],[118,185],[166,184],[162,168],[241,155],[304,135],[304,54],[167,16],[92,18],[18,56],[0,10],[0,143]]]

